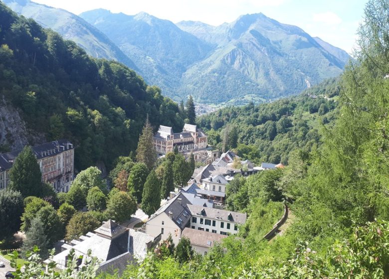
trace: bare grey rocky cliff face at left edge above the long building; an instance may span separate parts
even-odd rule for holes
[[[5,101],[0,99],[0,149],[1,151],[21,149],[26,144],[38,144],[45,141],[44,135],[32,133],[28,130],[19,112]]]

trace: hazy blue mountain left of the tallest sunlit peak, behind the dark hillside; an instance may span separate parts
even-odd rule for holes
[[[177,100],[185,96],[179,90],[182,75],[211,50],[208,43],[173,22],[145,12],[127,15],[96,9],[83,12],[80,17],[115,42],[135,61],[148,81]]]

